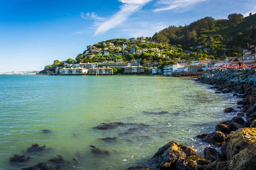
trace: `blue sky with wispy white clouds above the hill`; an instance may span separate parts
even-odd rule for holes
[[[251,0],[0,0],[0,71],[39,71],[104,40],[250,12]]]

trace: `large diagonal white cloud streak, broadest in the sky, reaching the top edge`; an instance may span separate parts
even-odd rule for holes
[[[122,2],[120,10],[114,14],[109,20],[104,23],[101,23],[97,28],[95,35],[103,34],[111,28],[119,26],[126,20],[128,17],[139,11],[145,4],[149,3],[151,0],[118,0]]]

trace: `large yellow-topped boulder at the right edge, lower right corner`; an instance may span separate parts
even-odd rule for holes
[[[256,128],[243,128],[236,130],[227,136],[225,153],[227,160],[231,160],[234,155],[246,148],[249,144],[256,142]]]

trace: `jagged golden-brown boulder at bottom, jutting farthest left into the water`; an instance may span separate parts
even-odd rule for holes
[[[152,160],[156,162],[158,169],[175,169],[177,161],[196,155],[192,147],[186,147],[178,142],[171,141],[160,147]]]

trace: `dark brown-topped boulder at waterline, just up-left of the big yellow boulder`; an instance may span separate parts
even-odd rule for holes
[[[224,133],[220,131],[212,132],[208,136],[206,136],[203,141],[215,145],[221,145],[227,140]]]

